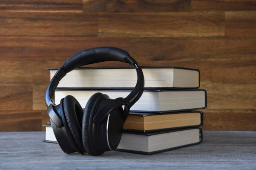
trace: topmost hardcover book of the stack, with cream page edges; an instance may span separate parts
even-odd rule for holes
[[[145,88],[199,88],[198,69],[182,67],[141,67]],[[57,68],[49,68],[51,79]],[[59,82],[58,88],[117,88],[132,89],[137,82],[133,67],[80,67]]]

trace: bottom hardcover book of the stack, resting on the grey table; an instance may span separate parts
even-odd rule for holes
[[[202,142],[202,129],[179,129],[159,132],[123,132],[117,151],[156,154]],[[52,127],[46,125],[45,142],[57,143]]]

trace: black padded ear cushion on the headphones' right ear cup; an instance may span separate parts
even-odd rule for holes
[[[86,108],[83,111],[83,118],[82,118],[82,141],[83,141],[83,148],[86,150],[87,153],[90,155],[95,155],[90,147],[89,143],[89,120],[92,108],[102,93],[95,93],[91,96],[89,101],[86,104]]]

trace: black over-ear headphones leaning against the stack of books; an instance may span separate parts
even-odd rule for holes
[[[106,94],[95,93],[84,110],[72,95],[61,99],[59,105],[54,104],[57,85],[68,72],[83,65],[103,61],[125,62],[136,68],[137,84],[126,98],[113,100]],[[62,151],[102,155],[105,151],[115,150],[120,142],[127,114],[140,99],[143,89],[143,72],[138,63],[124,50],[115,47],[96,47],[70,57],[57,70],[46,89],[45,96],[47,113]]]

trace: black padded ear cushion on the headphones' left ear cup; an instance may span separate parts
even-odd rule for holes
[[[62,101],[63,115],[65,116],[69,131],[80,153],[86,152],[82,144],[82,116],[83,109],[79,102],[67,95]]]

